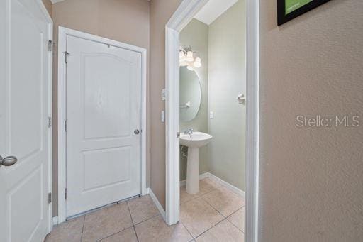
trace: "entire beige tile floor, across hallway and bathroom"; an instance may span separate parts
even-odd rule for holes
[[[45,242],[243,241],[244,200],[210,178],[200,192],[180,189],[180,222],[167,226],[150,196],[94,211],[56,226]]]

